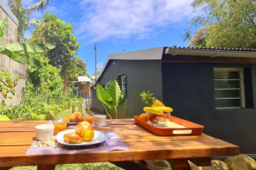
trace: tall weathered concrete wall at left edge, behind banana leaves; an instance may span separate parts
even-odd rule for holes
[[[4,41],[0,42],[0,44],[17,42],[19,21],[13,16],[10,9],[7,8],[4,2],[0,1],[0,20],[3,18],[7,21],[7,28],[4,35]],[[7,100],[7,105],[18,105],[21,100],[22,87],[26,83],[26,66],[12,61],[5,55],[0,55],[0,69],[11,72],[20,78],[16,87],[15,96],[12,100]]]

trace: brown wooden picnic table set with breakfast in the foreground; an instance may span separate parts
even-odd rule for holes
[[[112,162],[125,169],[135,160],[167,159],[174,169],[188,166],[187,159],[199,166],[207,166],[211,157],[239,154],[237,145],[221,139],[201,136],[157,137],[135,124],[133,119],[107,120],[109,126],[95,128],[115,131],[129,147],[128,151],[84,152],[78,154],[26,155],[34,142],[34,126],[44,122],[0,122],[0,169],[11,166],[38,166],[53,169],[57,164]],[[129,164],[132,165],[132,164]],[[136,168],[139,169],[139,168]]]

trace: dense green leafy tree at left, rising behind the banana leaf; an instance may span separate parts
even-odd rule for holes
[[[60,75],[64,79],[64,92],[70,78],[76,73],[75,61],[79,50],[79,42],[72,35],[73,27],[64,21],[56,18],[56,15],[46,13],[43,20],[37,21],[37,27],[33,31],[34,35],[30,41],[51,42],[56,44],[56,48],[49,50],[47,57],[49,63],[56,68],[60,68]]]

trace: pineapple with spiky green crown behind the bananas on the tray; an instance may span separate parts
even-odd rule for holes
[[[149,91],[143,91],[139,94],[139,96],[141,97],[141,100],[149,107],[164,107],[162,102],[157,100],[153,94],[154,93],[150,93]]]

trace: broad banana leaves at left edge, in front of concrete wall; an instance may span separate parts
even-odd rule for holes
[[[7,22],[0,20],[0,42],[3,41]],[[51,43],[11,43],[0,45],[0,53],[9,56],[12,60],[35,67],[43,67],[46,63],[34,57],[34,54],[43,53],[56,46]]]

